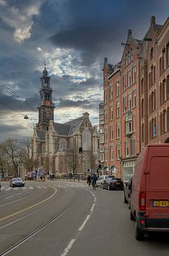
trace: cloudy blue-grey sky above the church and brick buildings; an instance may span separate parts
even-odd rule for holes
[[[118,63],[128,29],[142,39],[168,14],[168,0],[0,0],[0,141],[33,136],[44,61],[54,122],[88,112],[98,125],[104,58]]]

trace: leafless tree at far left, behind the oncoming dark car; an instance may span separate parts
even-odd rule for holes
[[[18,177],[18,166],[23,161],[23,152],[17,139],[6,139],[0,148],[8,158],[8,164],[13,166],[14,174]]]

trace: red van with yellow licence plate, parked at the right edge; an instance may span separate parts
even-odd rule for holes
[[[130,219],[136,240],[144,233],[169,232],[169,144],[148,144],[141,151],[132,179]]]

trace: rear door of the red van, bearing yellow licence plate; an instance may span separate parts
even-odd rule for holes
[[[148,155],[146,215],[169,218],[169,146],[152,146]]]

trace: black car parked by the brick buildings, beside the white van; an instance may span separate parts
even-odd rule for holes
[[[121,178],[108,178],[103,183],[103,188],[108,190],[123,190],[124,184]]]

